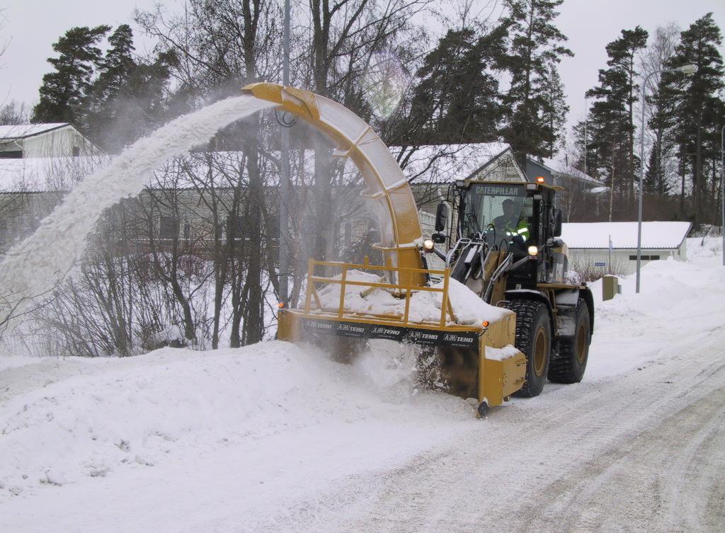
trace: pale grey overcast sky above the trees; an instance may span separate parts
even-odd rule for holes
[[[43,74],[51,68],[46,58],[51,44],[73,26],[130,22],[133,9],[150,9],[159,0],[0,0],[4,29],[0,43],[12,38],[0,57],[0,103],[17,99],[29,104],[38,99]],[[293,0],[299,1],[299,0]],[[183,0],[162,0],[169,9],[180,9]],[[571,110],[570,125],[584,117],[584,92],[597,83],[597,72],[605,67],[605,45],[623,28],[641,25],[653,33],[659,25],[676,22],[687,28],[698,17],[713,12],[725,30],[724,0],[566,0],[556,23],[568,36],[573,58],[563,59],[560,73]],[[143,51],[150,41],[137,35]],[[721,53],[724,49],[721,47]]]

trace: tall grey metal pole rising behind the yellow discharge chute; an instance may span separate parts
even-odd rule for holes
[[[282,84],[289,86],[289,0],[284,0]],[[289,128],[282,127],[279,202],[279,299],[289,305]]]

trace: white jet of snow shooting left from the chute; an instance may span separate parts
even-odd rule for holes
[[[139,139],[72,189],[38,229],[0,263],[0,324],[54,289],[77,265],[101,213],[138,194],[166,160],[199,146],[235,120],[275,104],[235,96],[183,115]]]

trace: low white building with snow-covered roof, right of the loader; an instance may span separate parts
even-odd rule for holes
[[[619,275],[637,270],[636,222],[565,223],[562,226],[561,238],[569,249],[571,270]],[[668,257],[685,260],[690,228],[689,222],[643,222],[642,265]]]

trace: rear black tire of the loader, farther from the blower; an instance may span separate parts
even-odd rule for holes
[[[589,358],[590,328],[589,307],[579,298],[574,313],[574,335],[560,338],[559,354],[549,366],[549,381],[564,384],[581,381]]]

